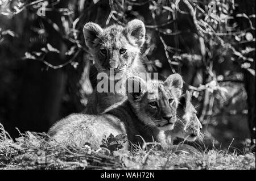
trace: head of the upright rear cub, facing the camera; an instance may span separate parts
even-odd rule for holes
[[[109,70],[114,69],[122,76],[136,64],[146,30],[141,20],[134,19],[125,27],[113,24],[101,28],[96,23],[86,23],[83,33],[97,70],[109,75]]]

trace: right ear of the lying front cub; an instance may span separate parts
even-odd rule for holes
[[[167,77],[166,81],[164,81],[164,86],[169,89],[175,89],[176,95],[178,97],[181,96],[181,89],[183,87],[183,79],[180,74],[172,74]]]

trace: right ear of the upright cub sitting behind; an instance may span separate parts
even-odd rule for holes
[[[141,20],[134,19],[128,22],[125,31],[133,44],[142,47],[145,41],[146,29]]]

